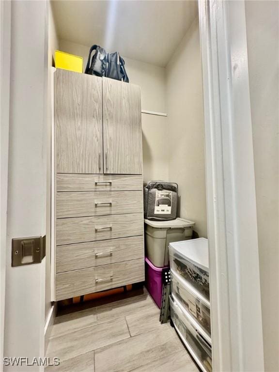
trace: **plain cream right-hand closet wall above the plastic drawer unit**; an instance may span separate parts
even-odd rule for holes
[[[179,185],[180,217],[207,237],[202,61],[198,18],[172,55],[167,71],[169,180]]]

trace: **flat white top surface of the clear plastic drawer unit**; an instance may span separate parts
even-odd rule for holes
[[[198,238],[170,243],[170,247],[187,261],[201,267],[204,271],[209,270],[207,239]]]

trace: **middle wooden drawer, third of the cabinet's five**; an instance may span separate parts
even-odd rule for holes
[[[143,235],[143,214],[71,217],[56,220],[56,245]]]

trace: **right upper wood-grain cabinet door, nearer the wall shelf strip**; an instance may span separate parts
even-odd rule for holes
[[[142,174],[140,87],[103,78],[104,173]]]

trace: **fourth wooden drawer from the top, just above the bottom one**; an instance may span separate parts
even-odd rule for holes
[[[143,235],[57,246],[56,273],[143,257]]]

